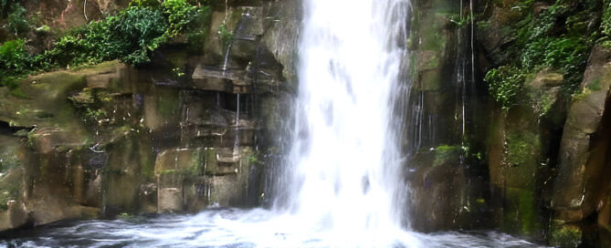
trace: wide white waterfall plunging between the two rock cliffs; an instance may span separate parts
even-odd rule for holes
[[[304,224],[349,233],[358,245],[359,237],[395,235],[406,208],[393,109],[405,75],[408,7],[406,0],[304,4],[285,206]]]

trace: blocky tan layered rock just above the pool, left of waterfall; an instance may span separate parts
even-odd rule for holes
[[[160,152],[155,166],[160,191],[158,211],[195,212],[208,205],[243,205],[252,154],[250,148]]]

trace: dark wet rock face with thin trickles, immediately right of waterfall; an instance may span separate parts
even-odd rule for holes
[[[414,1],[404,152],[410,219],[418,231],[486,228],[491,206],[481,141],[465,142],[480,119],[469,29],[459,1]],[[470,98],[470,99],[469,99]],[[479,108],[481,109],[481,108]]]

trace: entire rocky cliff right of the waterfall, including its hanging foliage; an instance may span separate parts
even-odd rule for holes
[[[608,246],[607,1],[413,5],[415,228]]]

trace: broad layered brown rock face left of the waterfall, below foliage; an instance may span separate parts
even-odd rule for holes
[[[266,158],[279,153],[296,85],[298,6],[213,6],[203,53],[179,37],[147,67],[31,76],[25,98],[0,88],[0,231],[264,200]]]

